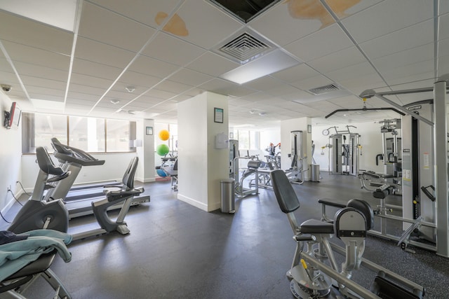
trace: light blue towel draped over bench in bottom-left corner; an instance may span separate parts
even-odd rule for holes
[[[72,235],[56,230],[32,230],[20,235],[29,237],[0,245],[0,281],[54,249],[66,263],[72,259],[66,246],[72,242]]]

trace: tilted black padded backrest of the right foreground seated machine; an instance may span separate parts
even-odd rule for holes
[[[274,195],[278,201],[281,211],[290,213],[300,207],[300,200],[297,199],[295,189],[288,181],[286,173],[282,169],[276,169],[270,172],[272,179]]]

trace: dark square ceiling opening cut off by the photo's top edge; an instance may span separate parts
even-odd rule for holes
[[[249,22],[260,13],[267,11],[268,8],[281,0],[209,0],[226,13],[232,15],[243,22]]]

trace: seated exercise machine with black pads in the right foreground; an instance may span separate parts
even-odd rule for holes
[[[297,243],[291,269],[290,290],[296,298],[422,298],[424,288],[363,258],[366,231],[374,224],[373,209],[363,200],[352,200],[335,214],[334,223],[309,219],[298,225],[293,213],[300,207],[293,186],[281,170],[271,173],[274,194],[288,216]],[[344,242],[345,249],[330,242]],[[345,256],[341,269],[334,251]],[[370,290],[351,279],[360,266],[377,272]],[[335,286],[334,286],[335,284]]]

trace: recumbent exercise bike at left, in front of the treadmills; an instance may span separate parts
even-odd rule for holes
[[[56,167],[51,160],[46,148],[36,148],[36,158],[39,164],[39,175],[36,179],[32,197],[23,205],[19,213],[15,216],[8,230],[15,233],[27,232],[36,229],[52,229],[60,232],[67,232],[69,227],[69,213],[61,198],[46,202],[43,200],[44,190],[48,187],[49,181],[63,180],[69,176],[69,172],[64,172],[60,167]],[[81,232],[73,235],[73,239],[83,239],[94,235],[102,235],[108,232],[117,231],[122,235],[130,232],[124,218],[128,213],[133,197],[144,192],[143,188],[134,188],[134,174],[137,169],[138,158],[131,160],[126,176],[126,187],[119,190],[105,190],[105,197],[102,200],[91,202],[91,207],[95,218],[101,228]],[[53,177],[49,176],[52,175]],[[119,216],[112,220],[107,215],[107,210],[113,205],[121,204]]]

